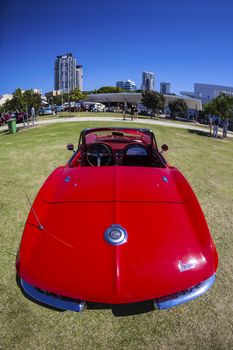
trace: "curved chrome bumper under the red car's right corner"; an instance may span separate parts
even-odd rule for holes
[[[199,283],[196,286],[193,286],[189,289],[186,289],[182,292],[177,293],[177,297],[171,296],[171,299],[168,299],[168,297],[162,297],[158,299],[154,299],[154,307],[159,310],[168,309],[173,306],[177,306],[183,303],[187,303],[191,300],[194,300],[201,296],[202,294],[206,293],[208,289],[212,287],[215,281],[215,274],[213,274],[210,278],[205,280],[202,283]],[[164,299],[164,301],[163,301]],[[165,300],[166,299],[166,300]]]

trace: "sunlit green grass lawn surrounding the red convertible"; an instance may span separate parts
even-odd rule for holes
[[[132,305],[133,315],[118,317],[108,308],[56,312],[18,289],[15,255],[29,211],[25,193],[35,198],[50,172],[70,157],[66,144],[77,144],[81,129],[102,125],[59,123],[0,133],[0,349],[233,349],[232,140],[152,128],[158,144],[168,144],[169,162],[191,183],[218,249],[217,279],[207,294],[166,311],[139,313]]]

